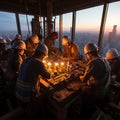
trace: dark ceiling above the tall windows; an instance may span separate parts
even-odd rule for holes
[[[47,16],[47,1],[53,16],[120,0],[0,0],[0,11]]]

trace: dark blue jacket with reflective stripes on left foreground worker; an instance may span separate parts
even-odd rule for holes
[[[50,74],[42,61],[37,58],[28,58],[21,65],[16,83],[16,96],[23,102],[29,102],[34,93],[34,87],[39,75],[50,78]]]

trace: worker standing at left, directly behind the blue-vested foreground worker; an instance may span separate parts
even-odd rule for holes
[[[13,53],[11,53],[7,60],[7,89],[9,99],[12,103],[12,107],[16,107],[16,97],[15,97],[15,85],[18,76],[20,66],[23,62],[23,54],[26,49],[26,44],[24,41],[20,40],[19,42],[13,43]]]

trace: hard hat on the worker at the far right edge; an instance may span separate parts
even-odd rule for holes
[[[115,48],[109,49],[109,50],[107,51],[106,55],[105,55],[106,59],[108,59],[108,60],[109,60],[109,59],[114,59],[114,58],[119,57],[119,56],[120,56],[120,55],[119,55],[117,49],[115,49]]]

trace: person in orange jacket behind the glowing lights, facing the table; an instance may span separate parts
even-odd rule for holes
[[[62,37],[62,45],[64,46],[62,60],[72,61],[80,58],[79,47],[75,43],[71,43],[67,36]]]

